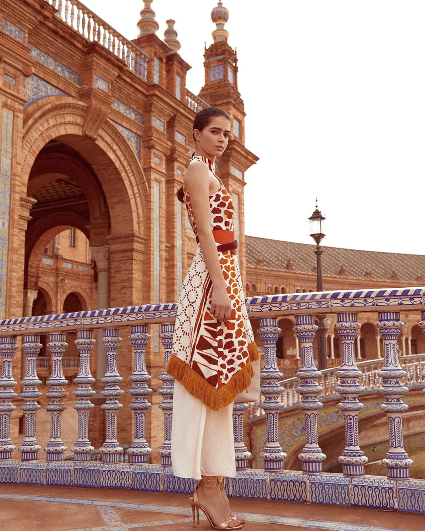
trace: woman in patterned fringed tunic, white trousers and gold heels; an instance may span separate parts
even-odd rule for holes
[[[258,359],[245,307],[234,239],[233,203],[214,163],[230,137],[224,110],[200,110],[196,149],[177,196],[198,246],[181,294],[167,372],[174,376],[172,463],[176,476],[199,479],[190,498],[214,529],[239,529],[223,488],[236,475],[233,399],[249,386]]]

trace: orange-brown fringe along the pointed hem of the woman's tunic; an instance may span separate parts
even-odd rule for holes
[[[260,357],[255,341],[248,345],[248,362],[222,387],[211,386],[197,372],[179,357],[172,355],[167,363],[166,372],[179,381],[192,396],[198,398],[207,407],[218,411],[228,406],[235,396],[249,387],[254,371],[251,362]]]

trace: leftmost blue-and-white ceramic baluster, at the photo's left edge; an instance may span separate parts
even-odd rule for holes
[[[12,359],[18,349],[15,336],[0,338],[0,352],[2,354],[2,378],[0,379],[0,460],[12,459],[15,446],[10,439],[10,419],[16,407],[12,400],[17,396],[13,392],[16,382],[12,374]]]

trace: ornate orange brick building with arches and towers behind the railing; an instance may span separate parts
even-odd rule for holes
[[[0,6],[2,319],[176,301],[196,242],[175,194],[194,149],[194,115],[208,105],[231,116],[231,140],[216,171],[233,197],[247,295],[291,293],[298,285],[315,289],[310,246],[247,236],[245,247],[244,176],[258,159],[244,145],[244,104],[236,51],[224,28],[226,8],[219,3],[211,13],[216,29],[205,50],[205,84],[196,96],[186,88],[190,65],[179,55],[174,21],[167,21],[161,39],[152,0],[144,3],[140,20],[134,21],[139,32],[134,40],[73,0],[4,0]],[[384,268],[389,276],[379,279],[372,258],[385,253],[350,253],[326,249],[326,289],[418,284],[425,274],[423,257],[412,261],[391,255],[394,267]],[[382,270],[379,264],[376,271]],[[425,347],[418,321],[401,339],[404,352]],[[362,322],[359,352],[373,357],[379,344],[375,330],[373,339],[366,332],[363,337],[369,324]],[[298,365],[292,326],[290,319],[281,320],[278,349],[285,376]],[[332,322],[329,327],[328,350],[337,359]],[[147,349],[154,389],[164,362],[158,332],[157,326]],[[129,333],[122,331],[118,354],[123,390],[130,387],[132,372]],[[70,358],[77,356],[73,340],[70,333]],[[14,359],[16,375],[20,352]],[[99,447],[105,418],[100,379],[106,365],[100,342],[91,359],[97,394],[90,439]],[[40,364],[43,371],[47,378],[48,367]],[[69,371],[68,379],[72,376]],[[128,393],[120,398],[124,405],[130,400]],[[152,403],[160,400],[151,395]],[[157,448],[163,417],[158,408],[151,411],[147,439]],[[16,409],[15,420],[21,414]],[[124,444],[131,442],[132,423],[131,410],[124,407],[118,416]]]

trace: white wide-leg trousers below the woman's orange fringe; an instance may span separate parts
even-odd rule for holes
[[[175,476],[236,476],[233,402],[218,411],[174,383],[171,461]]]

